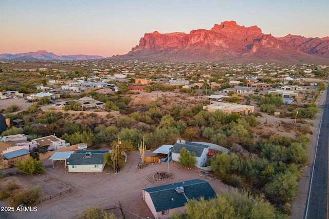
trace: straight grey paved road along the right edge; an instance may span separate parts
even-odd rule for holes
[[[305,219],[328,218],[328,135],[329,135],[329,90],[325,104],[315,154],[314,167],[306,203]]]

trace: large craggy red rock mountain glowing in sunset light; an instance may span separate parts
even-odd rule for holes
[[[306,38],[263,34],[257,26],[234,21],[215,24],[210,30],[187,33],[146,33],[139,45],[119,59],[179,62],[290,62],[329,64],[329,37]]]

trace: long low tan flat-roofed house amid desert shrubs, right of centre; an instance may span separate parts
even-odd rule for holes
[[[241,104],[231,104],[231,103],[215,103],[202,107],[203,110],[207,110],[209,112],[215,112],[216,110],[222,110],[225,113],[238,113],[249,115],[254,112],[254,106],[249,105],[241,105]]]

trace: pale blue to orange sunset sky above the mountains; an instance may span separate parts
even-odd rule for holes
[[[264,34],[329,36],[329,0],[0,0],[0,54],[126,54],[145,33],[235,21]]]

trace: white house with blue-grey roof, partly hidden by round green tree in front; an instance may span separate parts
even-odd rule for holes
[[[204,167],[207,162],[207,153],[209,145],[186,142],[185,140],[177,140],[177,143],[171,148],[171,156],[173,161],[179,162],[180,149],[186,148],[189,152],[195,152],[196,167]]]

